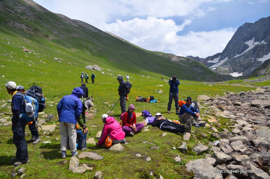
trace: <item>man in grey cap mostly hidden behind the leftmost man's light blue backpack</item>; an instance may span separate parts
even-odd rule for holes
[[[24,87],[21,85],[17,86],[16,90],[22,94],[25,94]],[[32,138],[28,140],[27,143],[33,142],[33,144],[37,144],[41,141],[39,137],[38,129],[36,128],[37,121],[38,121],[38,113],[35,115],[35,118],[32,122],[27,123],[27,125],[29,126],[29,130],[31,131],[31,135],[32,135]]]

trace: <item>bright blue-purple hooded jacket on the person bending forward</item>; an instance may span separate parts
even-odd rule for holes
[[[66,95],[60,100],[57,106],[59,122],[77,124],[77,119],[79,119],[83,107],[83,103],[79,98],[83,94],[83,90],[76,87],[70,95]]]

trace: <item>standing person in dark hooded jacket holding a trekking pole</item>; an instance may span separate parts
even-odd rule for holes
[[[123,80],[122,76],[117,77],[119,84],[118,94],[120,96],[121,114],[127,111],[126,99],[127,99],[127,83]]]

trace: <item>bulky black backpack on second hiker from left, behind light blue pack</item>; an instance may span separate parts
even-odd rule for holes
[[[40,86],[31,86],[28,90],[26,90],[25,94],[27,96],[34,97],[38,101],[38,112],[42,112],[46,108],[45,97],[42,94],[42,88]]]

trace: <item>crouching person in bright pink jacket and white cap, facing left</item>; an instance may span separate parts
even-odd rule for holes
[[[110,117],[107,114],[103,114],[101,119],[105,124],[102,129],[101,136],[99,137],[99,141],[96,143],[96,145],[103,146],[108,136],[110,136],[110,139],[113,140],[112,144],[126,142],[125,133],[122,130],[122,127],[113,117]]]

